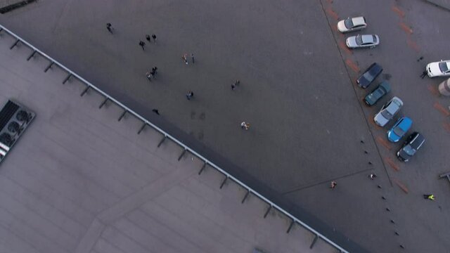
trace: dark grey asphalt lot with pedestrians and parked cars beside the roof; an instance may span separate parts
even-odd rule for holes
[[[186,141],[200,151],[220,154],[219,163],[262,183],[293,212],[313,213],[324,229],[373,252],[397,252],[399,245],[444,252],[449,183],[437,175],[450,170],[449,102],[437,96],[443,79],[419,76],[426,63],[449,58],[437,49],[449,37],[448,14],[418,0],[41,1],[0,15],[0,22],[144,115],[155,117],[150,110],[158,108],[160,124],[190,135]],[[349,15],[365,15],[364,33],[379,34],[380,46],[347,50],[334,27]],[[142,51],[139,39],[153,32],[158,44]],[[191,52],[196,63],[186,66],[180,55]],[[375,83],[388,79],[392,92],[366,108],[367,91],[354,79],[374,61],[385,69]],[[154,65],[160,76],[150,84],[144,74]],[[231,91],[236,79],[241,85]],[[191,101],[184,97],[189,89]],[[427,139],[409,164],[394,157],[399,144],[385,141],[393,122],[380,129],[371,120],[392,96],[404,100],[401,115]],[[243,120],[250,131],[240,129]],[[367,179],[372,171],[377,181]],[[331,180],[338,181],[333,191]],[[437,201],[424,201],[423,193]]]

